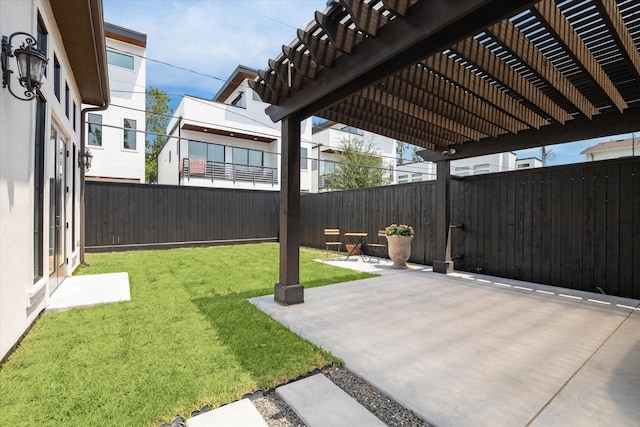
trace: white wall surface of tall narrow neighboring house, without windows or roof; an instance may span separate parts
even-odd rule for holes
[[[87,180],[144,182],[146,49],[109,37],[106,44],[107,51],[130,55],[133,70],[109,63],[111,105],[105,111],[92,113],[102,117],[102,146],[91,145],[87,138],[87,147],[93,154]],[[124,119],[135,120],[135,149],[124,147]],[[87,132],[88,129],[89,126]]]

